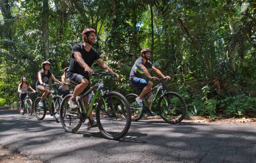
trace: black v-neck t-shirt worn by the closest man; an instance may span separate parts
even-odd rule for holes
[[[82,54],[82,58],[83,58],[84,62],[89,67],[92,67],[93,62],[100,58],[99,53],[94,48],[91,48],[89,52],[86,51],[84,48],[84,44],[82,44],[82,43],[77,43],[73,46],[72,53],[71,53],[71,62],[70,62],[69,69],[67,70],[67,72],[71,71],[74,73],[88,75],[88,73],[84,73],[84,68],[82,68],[79,65],[79,63],[77,62],[76,58],[73,55],[74,52],[80,52]]]

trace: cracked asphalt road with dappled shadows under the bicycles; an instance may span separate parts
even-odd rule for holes
[[[256,162],[256,125],[132,122],[119,141],[0,108],[0,144],[43,162]]]

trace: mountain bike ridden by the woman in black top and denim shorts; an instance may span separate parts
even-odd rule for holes
[[[59,108],[61,105],[61,101],[63,100],[63,98],[57,94],[57,92],[58,92],[57,86],[59,86],[59,85],[61,85],[61,84],[59,84],[59,83],[58,84],[46,84],[46,86],[52,86],[52,89],[50,90],[49,94],[46,97],[48,97],[51,94],[49,102],[52,100],[51,109],[53,109],[53,110],[55,110],[55,112],[57,112],[56,114],[52,115],[56,122],[59,122],[59,120],[58,120]],[[48,103],[47,98],[45,98],[43,101],[44,106],[40,107],[38,105],[40,100],[41,100],[41,97],[36,98],[35,103],[34,103],[34,112],[35,112],[36,118],[38,120],[43,120],[46,115],[47,110],[50,111],[50,105]]]

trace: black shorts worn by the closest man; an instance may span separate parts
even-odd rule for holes
[[[81,94],[87,92],[91,88],[91,86],[90,86],[90,78],[89,78],[88,75],[80,74],[80,73],[75,73],[75,72],[72,72],[72,71],[68,71],[66,75],[67,75],[67,80],[70,81],[70,82],[73,82],[75,84],[80,84],[81,80],[84,79],[84,78],[89,81],[89,84],[83,90],[83,92]]]

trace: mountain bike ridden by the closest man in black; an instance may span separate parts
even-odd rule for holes
[[[69,107],[69,99],[72,94],[67,95],[62,100],[60,109],[61,125],[67,132],[74,133],[79,130],[82,123],[87,120],[95,100],[99,96],[96,108],[96,120],[99,130],[105,138],[118,140],[128,132],[131,125],[131,110],[128,101],[122,94],[109,92],[108,88],[104,86],[102,77],[113,77],[114,75],[102,72],[94,72],[92,75],[98,76],[99,82],[92,86],[86,93],[80,94],[77,97],[76,104],[78,108],[72,109]],[[86,112],[82,102],[84,102],[84,96],[93,90],[95,95]],[[90,118],[88,119],[92,125],[92,120]]]

